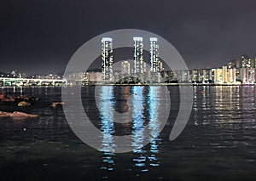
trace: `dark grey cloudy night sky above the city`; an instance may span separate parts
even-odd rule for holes
[[[124,28],[166,38],[190,69],[256,56],[253,0],[2,0],[0,9],[4,72],[59,73],[84,42]]]

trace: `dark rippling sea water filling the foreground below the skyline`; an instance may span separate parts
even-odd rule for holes
[[[177,87],[169,87],[172,108],[161,132],[158,120],[166,105],[160,87],[102,87],[96,95],[101,99],[98,110],[91,96],[93,87],[84,87],[84,100],[91,102],[84,110],[90,110],[94,124],[102,131],[91,139],[102,140],[103,152],[75,136],[61,107],[49,107],[61,100],[61,88],[4,90],[42,100],[27,108],[0,104],[0,110],[40,115],[24,120],[0,117],[1,180],[246,179],[255,175],[254,86],[194,87],[189,123],[172,142],[168,138],[179,107]],[[113,122],[115,111],[123,115],[122,123]],[[146,125],[151,138],[143,134]],[[112,153],[116,146],[113,135],[131,135],[133,151]],[[149,143],[143,146],[145,139]]]

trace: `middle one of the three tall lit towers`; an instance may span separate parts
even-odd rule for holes
[[[133,37],[134,42],[134,72],[142,74],[144,70],[143,64],[143,37]]]

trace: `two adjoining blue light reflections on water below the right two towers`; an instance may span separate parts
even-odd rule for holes
[[[159,167],[158,159],[160,141],[160,110],[158,93],[159,87],[133,87],[132,91],[137,96],[132,98],[132,139],[131,146],[133,149],[134,167],[140,172],[148,172],[148,164],[150,167]],[[147,107],[145,110],[144,108]],[[148,127],[145,122],[148,122]],[[149,131],[149,138],[147,135]],[[143,148],[144,140],[149,139],[150,150]]]

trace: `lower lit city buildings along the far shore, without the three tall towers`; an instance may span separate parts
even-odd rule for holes
[[[132,60],[134,61],[134,60]],[[117,67],[115,67],[115,70],[113,70],[113,74],[116,73],[121,73],[121,74],[127,74],[127,75],[132,75],[132,65],[133,62],[131,62],[130,60],[122,60],[119,61],[119,68],[117,69]],[[148,70],[149,70],[149,66],[148,66]],[[223,80],[224,82],[226,82],[225,80],[235,80],[235,76],[239,77],[238,79],[240,80],[249,80],[249,82],[254,82],[254,80],[256,80],[256,77],[254,77],[254,75],[256,76],[256,58],[249,58],[246,54],[241,55],[241,59],[236,59],[236,60],[231,60],[229,62],[227,62],[226,64],[219,66],[219,67],[207,67],[207,68],[202,68],[202,69],[190,69],[190,70],[167,70],[167,71],[161,71],[161,72],[172,72],[171,74],[175,74],[175,76],[180,76],[182,78],[179,78],[182,81],[195,81],[195,82],[205,82],[207,80],[210,80],[211,77],[211,73],[209,73],[209,71],[213,71],[212,75],[215,76],[215,78],[212,78],[213,82],[219,82],[216,81],[218,79],[220,79],[219,77],[221,76],[221,74],[224,74],[224,72],[227,72],[229,74],[229,78],[228,76],[224,76]],[[83,71],[82,71],[83,72]],[[82,73],[81,72],[81,73]],[[92,72],[92,73],[96,73],[97,77],[100,77],[98,75],[98,72],[102,72],[101,69],[89,69],[86,71],[88,72]],[[84,71],[84,74],[86,73]],[[72,72],[70,72],[72,73]],[[190,77],[189,77],[189,73],[190,73]],[[241,75],[243,75],[242,77],[240,77],[240,73]],[[182,76],[181,76],[182,75]],[[172,75],[173,76],[173,75]],[[1,73],[0,77],[16,77],[16,78],[35,78],[35,79],[61,79],[63,77],[63,75],[60,74],[48,74],[48,75],[32,75],[32,76],[27,76],[25,72],[20,72],[20,71],[9,71],[9,73]],[[213,76],[212,76],[213,77]],[[218,78],[216,78],[218,77]],[[94,79],[94,78],[93,78]],[[222,78],[221,78],[222,79]],[[234,82],[234,81],[229,81],[229,82]],[[241,82],[247,82],[247,81],[241,81]]]

